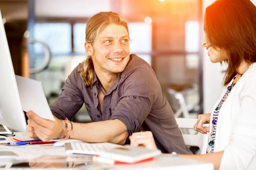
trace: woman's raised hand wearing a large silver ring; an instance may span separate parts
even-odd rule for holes
[[[195,131],[198,131],[203,134],[204,133],[206,134],[207,132],[209,132],[210,127],[204,127],[203,125],[198,125],[198,121],[201,120],[204,124],[206,124],[206,123],[210,123],[210,119],[211,119],[211,113],[198,115],[198,120],[194,125]]]

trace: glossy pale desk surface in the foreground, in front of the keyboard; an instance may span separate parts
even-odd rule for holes
[[[0,159],[1,160],[1,159]],[[153,161],[138,164],[107,165],[94,163],[91,156],[43,156],[30,161],[0,161],[0,168],[78,168],[88,170],[123,169],[123,170],[213,170],[213,165],[179,157],[161,155]]]

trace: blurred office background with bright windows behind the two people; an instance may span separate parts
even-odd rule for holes
[[[0,0],[0,9],[15,74],[41,81],[49,104],[73,68],[86,58],[87,21],[99,11],[114,11],[128,20],[131,53],[154,69],[174,112],[182,108],[177,99],[182,91],[189,116],[197,117],[209,113],[222,92],[225,67],[212,64],[200,47],[204,9],[213,1]],[[45,51],[38,42],[47,45],[50,60],[43,71],[29,73],[29,67],[44,62]],[[75,120],[90,121],[84,107]]]

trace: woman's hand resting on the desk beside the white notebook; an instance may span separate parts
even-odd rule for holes
[[[136,132],[129,137],[131,146],[143,146],[147,149],[157,150],[156,143],[151,131]]]

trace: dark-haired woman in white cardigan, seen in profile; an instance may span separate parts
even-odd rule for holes
[[[204,31],[201,46],[211,62],[228,65],[226,88],[212,113],[199,115],[194,125],[211,134],[208,153],[180,157],[212,162],[216,170],[256,169],[256,6],[250,0],[216,0],[206,8]],[[157,149],[151,132],[134,133],[130,140]]]

